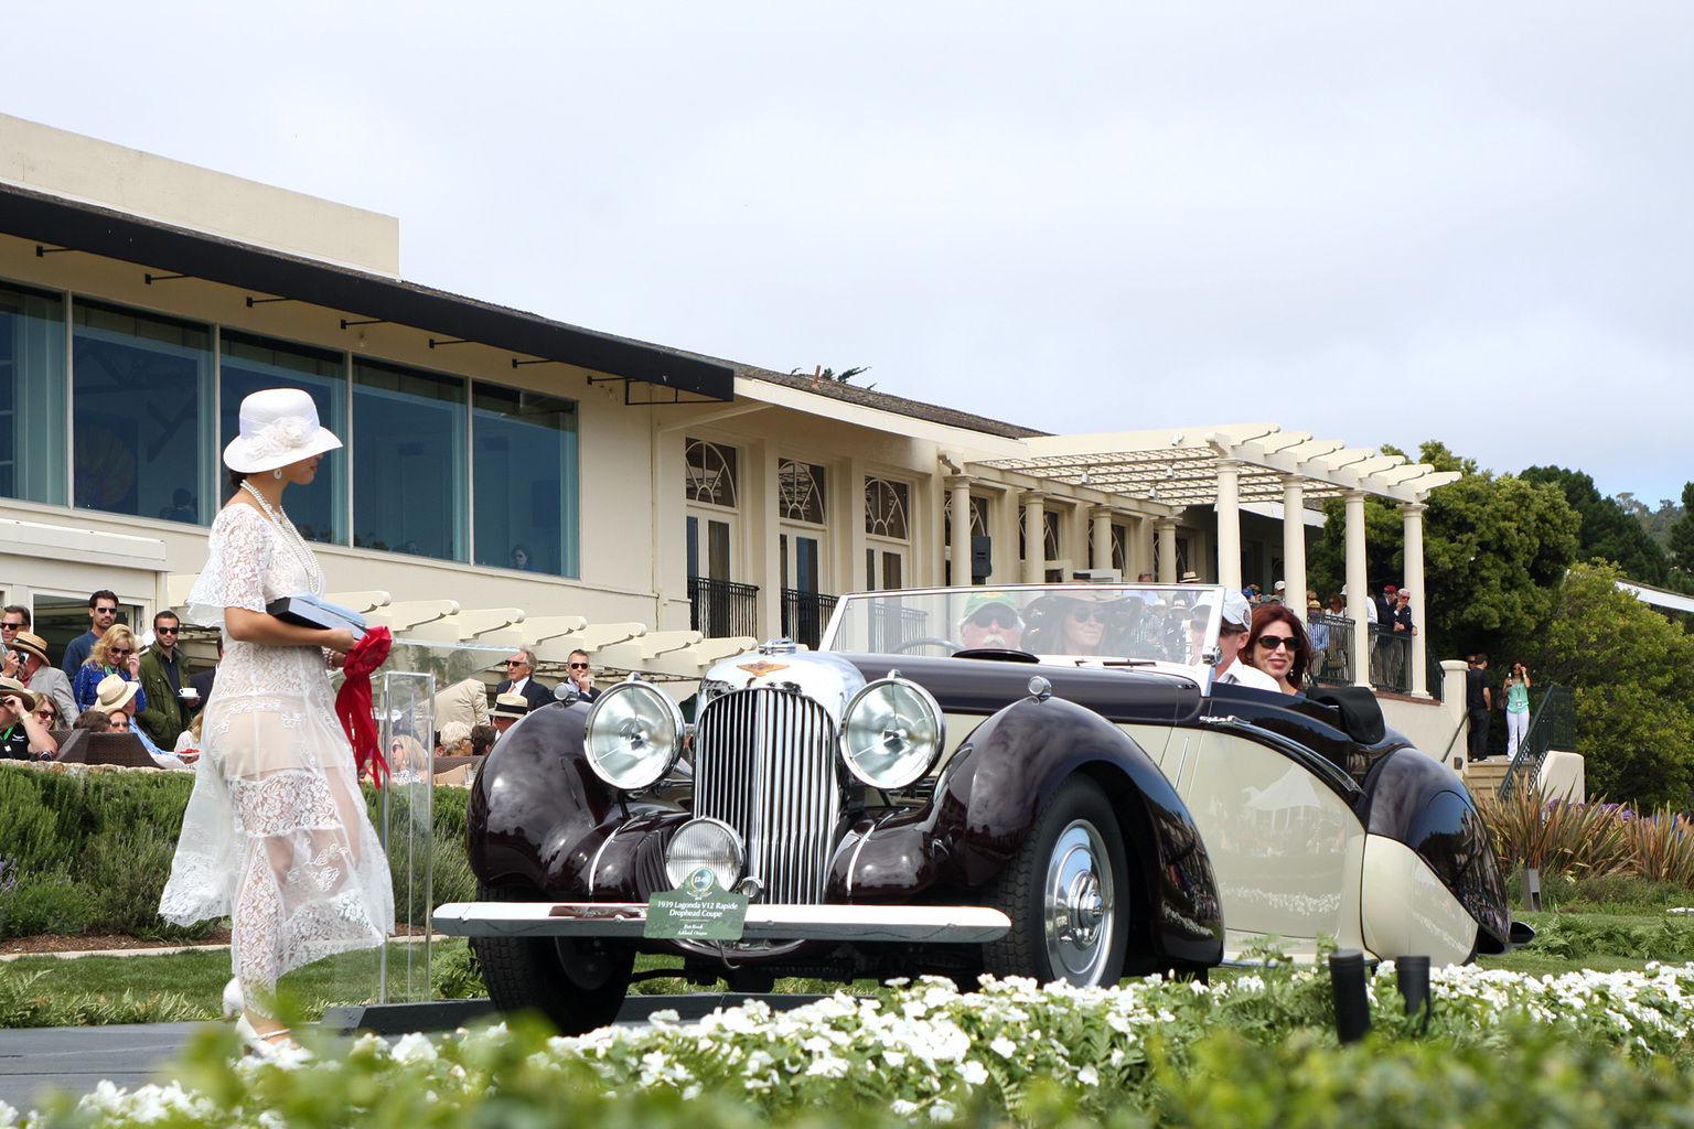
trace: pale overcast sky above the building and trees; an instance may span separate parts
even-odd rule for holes
[[[1694,479],[1689,3],[30,3],[0,110],[1049,432]]]

